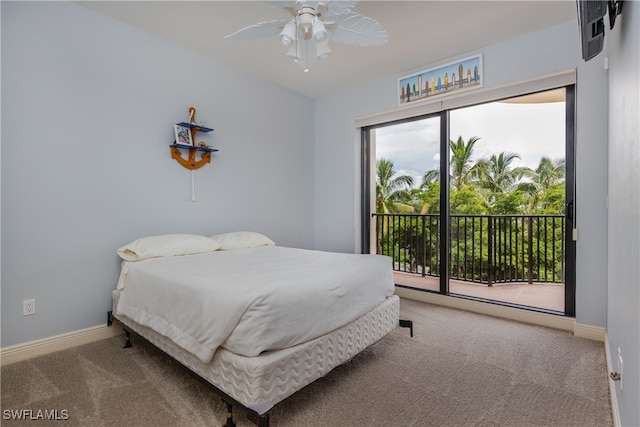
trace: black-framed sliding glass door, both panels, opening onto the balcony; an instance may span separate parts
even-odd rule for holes
[[[363,128],[396,285],[574,315],[573,86]]]

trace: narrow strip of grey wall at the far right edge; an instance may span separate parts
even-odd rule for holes
[[[640,425],[640,3],[625,2],[609,45],[607,330],[621,425]]]

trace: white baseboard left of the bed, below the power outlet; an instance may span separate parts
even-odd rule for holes
[[[99,325],[0,349],[0,366],[123,334],[122,328]]]

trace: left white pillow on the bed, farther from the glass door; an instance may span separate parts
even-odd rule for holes
[[[138,239],[118,249],[125,261],[140,261],[155,257],[200,254],[218,250],[220,245],[197,234],[163,234]]]

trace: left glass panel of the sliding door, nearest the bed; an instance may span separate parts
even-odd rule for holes
[[[440,290],[440,191],[425,169],[440,169],[439,116],[371,129],[375,154],[372,252],[394,260],[397,283]]]

